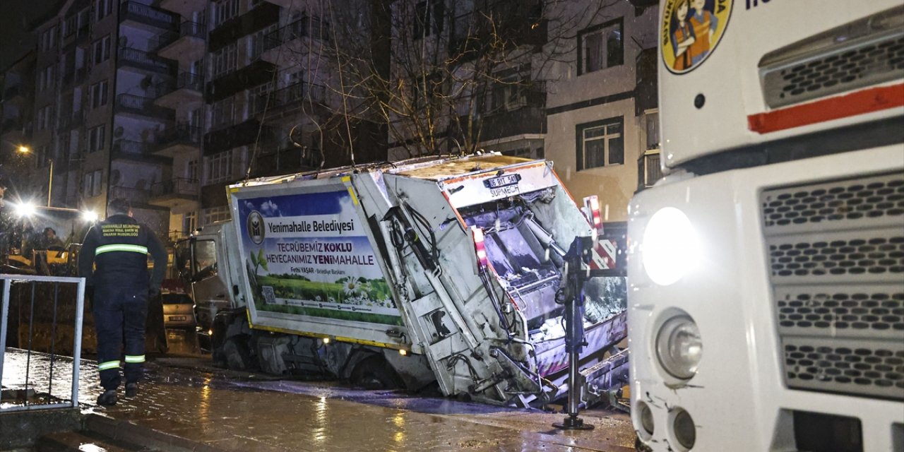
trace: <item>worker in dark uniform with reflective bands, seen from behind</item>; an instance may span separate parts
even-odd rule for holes
[[[132,218],[128,200],[110,201],[107,212],[107,220],[85,235],[79,253],[79,274],[94,292],[98,370],[104,389],[99,405],[117,402],[120,347],[125,348],[126,397],[137,395],[145,363],[147,298],[160,294],[166,270],[166,250],[153,231]],[[148,255],[154,259],[150,278]]]

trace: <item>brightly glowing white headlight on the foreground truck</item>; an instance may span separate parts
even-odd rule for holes
[[[681,279],[695,266],[700,253],[691,221],[674,207],[660,209],[650,217],[641,245],[646,275],[660,286]]]

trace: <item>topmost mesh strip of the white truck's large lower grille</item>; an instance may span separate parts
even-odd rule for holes
[[[904,219],[904,175],[773,191],[763,202],[767,228],[862,219]]]

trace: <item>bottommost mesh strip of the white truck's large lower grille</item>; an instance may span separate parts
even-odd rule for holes
[[[784,343],[788,385],[904,400],[904,344]]]

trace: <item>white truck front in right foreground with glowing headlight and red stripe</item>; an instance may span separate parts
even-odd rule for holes
[[[665,177],[628,224],[638,448],[904,450],[904,6],[660,18]]]

